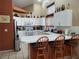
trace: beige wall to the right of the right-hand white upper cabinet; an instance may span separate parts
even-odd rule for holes
[[[79,0],[70,0],[69,2],[70,7],[73,10],[73,25],[79,26]]]

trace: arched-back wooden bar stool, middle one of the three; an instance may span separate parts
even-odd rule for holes
[[[54,42],[55,59],[64,59],[64,41],[65,37],[63,35],[60,35],[55,39]]]

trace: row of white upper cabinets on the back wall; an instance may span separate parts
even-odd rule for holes
[[[45,18],[14,17],[18,26],[45,26]]]

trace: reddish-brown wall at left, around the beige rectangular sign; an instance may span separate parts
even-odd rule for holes
[[[0,50],[9,50],[14,48],[12,12],[12,0],[0,0],[0,15],[10,15],[10,23],[0,23],[0,43],[2,43],[0,44]],[[5,29],[8,31],[5,32]]]

